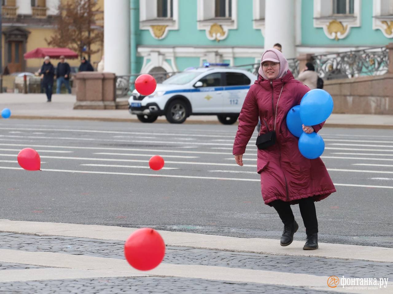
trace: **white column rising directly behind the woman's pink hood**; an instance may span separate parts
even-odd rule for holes
[[[295,12],[294,0],[265,1],[264,50],[280,43],[287,59],[296,57]]]

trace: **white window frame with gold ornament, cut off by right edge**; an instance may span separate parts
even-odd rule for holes
[[[385,2],[385,3],[384,3]],[[382,15],[389,7],[391,15]],[[373,0],[373,29],[380,29],[386,38],[393,38],[393,2],[386,0]]]

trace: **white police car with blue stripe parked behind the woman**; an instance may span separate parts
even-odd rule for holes
[[[228,64],[204,64],[157,84],[150,96],[134,90],[129,110],[144,123],[162,115],[170,123],[183,123],[190,115],[217,115],[221,123],[230,125],[237,121],[244,97],[256,79],[252,73]]]

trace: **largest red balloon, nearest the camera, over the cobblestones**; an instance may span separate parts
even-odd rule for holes
[[[138,229],[125,242],[124,255],[133,268],[152,270],[164,259],[165,243],[156,230]]]

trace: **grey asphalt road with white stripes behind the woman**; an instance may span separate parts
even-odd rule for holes
[[[153,227],[279,239],[263,204],[256,133],[235,164],[236,125],[0,121],[0,219]],[[393,247],[393,130],[323,128],[337,192],[316,202],[319,241]],[[36,149],[42,171],[19,168]],[[165,168],[152,171],[159,154]],[[299,207],[292,206],[305,239]]]

